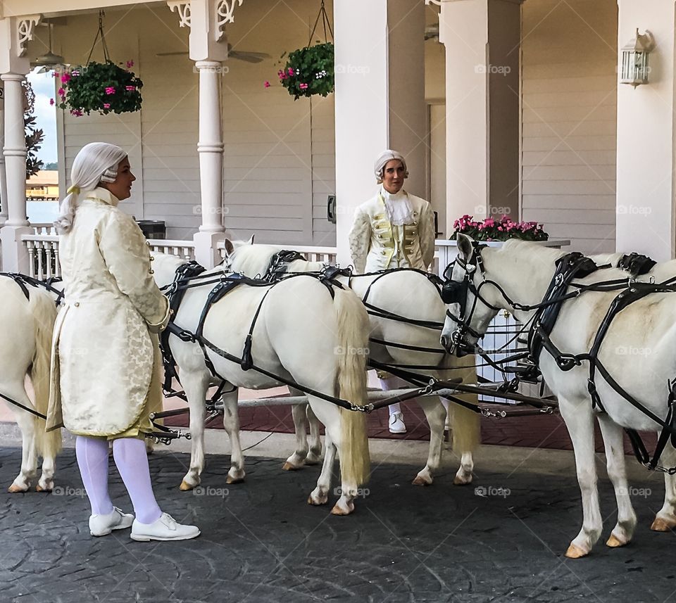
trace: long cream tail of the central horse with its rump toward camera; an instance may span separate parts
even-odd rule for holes
[[[361,300],[351,291],[334,288],[334,309],[338,322],[339,398],[354,404],[366,403],[366,357],[368,355],[368,314]],[[342,448],[340,470],[347,483],[368,481],[370,456],[366,415],[340,409]]]

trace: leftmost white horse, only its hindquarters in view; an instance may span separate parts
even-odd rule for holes
[[[40,287],[27,286],[28,298],[10,277],[0,277],[0,393],[27,408],[46,414],[49,402],[51,334],[56,319],[54,297]],[[26,392],[26,376],[34,393]],[[9,492],[26,492],[37,476],[37,459],[42,456],[38,492],[54,488],[55,458],[61,450],[61,430],[45,433],[44,419],[6,401],[21,431],[21,470]]]

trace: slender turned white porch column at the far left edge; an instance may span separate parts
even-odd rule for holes
[[[26,141],[23,123],[23,89],[20,73],[0,75],[5,84],[5,141],[3,155],[6,171],[6,204],[8,218],[0,230],[4,270],[25,272],[28,268],[27,248],[21,235],[30,233],[26,217]]]

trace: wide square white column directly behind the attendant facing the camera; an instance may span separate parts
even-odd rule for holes
[[[422,0],[334,3],[337,261],[351,262],[354,210],[375,195],[373,162],[406,155],[406,190],[425,196],[424,5]]]

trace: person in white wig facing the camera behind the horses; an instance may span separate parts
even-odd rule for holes
[[[352,261],[357,273],[389,268],[427,270],[434,260],[434,212],[425,199],[408,194],[406,159],[387,149],[375,160],[380,189],[360,205],[349,234]],[[399,379],[378,374],[384,391],[396,389]],[[389,431],[406,433],[399,404],[389,407]]]

